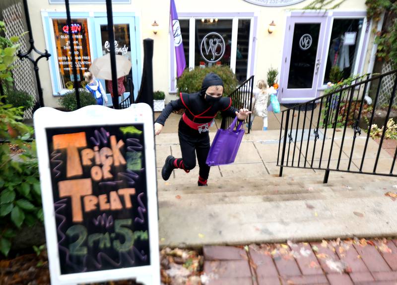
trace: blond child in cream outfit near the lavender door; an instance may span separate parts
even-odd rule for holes
[[[269,99],[268,94],[268,86],[265,83],[265,80],[259,80],[257,83],[257,87],[253,90],[255,98],[252,102],[252,115],[251,115],[251,126],[254,121],[255,116],[262,117],[264,120],[263,130],[267,130],[267,101]]]

